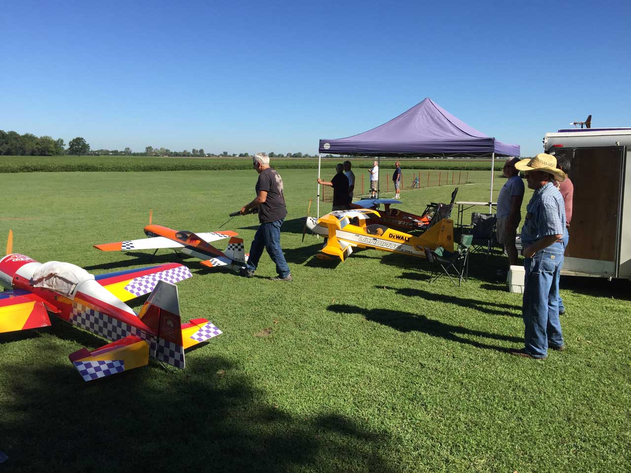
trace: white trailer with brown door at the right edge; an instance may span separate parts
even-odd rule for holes
[[[562,274],[631,279],[631,128],[559,130],[546,133],[543,148],[572,164]]]

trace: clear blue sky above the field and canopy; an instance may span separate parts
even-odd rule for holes
[[[0,129],[91,148],[316,153],[426,96],[522,155],[631,126],[631,2],[31,2],[0,16]]]

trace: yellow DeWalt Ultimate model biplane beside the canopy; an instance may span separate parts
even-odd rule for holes
[[[373,248],[415,257],[425,257],[425,248],[434,250],[443,247],[454,249],[454,222],[442,219],[423,235],[415,237],[385,225],[370,224],[379,219],[380,212],[372,209],[339,210],[307,219],[307,227],[314,233],[327,237],[322,254],[338,257],[344,261],[353,252],[353,247]]]

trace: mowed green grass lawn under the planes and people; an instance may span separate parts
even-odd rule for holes
[[[144,237],[150,208],[160,225],[217,230],[254,197],[256,177],[1,174],[0,234],[13,228],[14,251],[95,274],[148,266],[150,252],[91,245]],[[68,354],[103,339],[58,320],[0,334],[0,450],[10,457],[3,470],[631,468],[628,281],[563,277],[567,351],[545,361],[512,357],[506,350],[522,346],[521,295],[495,278],[504,259],[474,255],[461,288],[446,278],[430,283],[424,260],[375,250],[331,266],[313,258],[322,238],[301,242],[314,170],[282,177],[282,243],[295,280],[269,281],[268,255],[252,279],[180,260],[194,274],[178,284],[183,318],[206,317],[225,332],[187,354],[186,370],[152,360],[84,383]],[[487,200],[488,173],[469,180],[458,200]],[[495,183],[497,195],[504,180]],[[405,190],[401,208],[448,201],[452,189]],[[223,228],[239,231],[249,248],[256,225],[251,215]],[[167,250],[155,258],[174,260]]]

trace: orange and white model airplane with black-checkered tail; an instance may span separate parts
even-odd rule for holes
[[[202,259],[201,264],[206,267],[227,267],[238,270],[245,266],[247,255],[243,239],[237,238],[239,233],[230,230],[207,233],[178,231],[162,225],[151,225],[151,219],[152,213],[149,214],[149,225],[144,227],[144,234],[148,238],[103,243],[94,247],[102,251],[155,250],[154,255],[160,248],[171,248],[176,253]],[[221,252],[210,244],[223,238],[230,238],[225,252]]]

